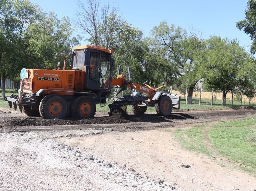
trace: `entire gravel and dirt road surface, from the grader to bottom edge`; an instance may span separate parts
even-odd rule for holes
[[[221,156],[213,161],[183,150],[170,133],[194,124],[256,116],[255,109],[176,112],[168,117],[97,116],[42,120],[0,109],[0,190],[256,188],[254,176]]]

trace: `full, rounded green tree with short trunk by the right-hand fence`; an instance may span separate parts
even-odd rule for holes
[[[207,49],[201,54],[204,59],[200,64],[199,75],[203,76],[208,89],[222,92],[223,105],[226,94],[233,91],[238,83],[238,72],[243,67],[247,53],[235,40],[212,37],[207,40]]]

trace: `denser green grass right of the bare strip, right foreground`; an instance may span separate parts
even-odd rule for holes
[[[209,131],[209,139],[226,158],[256,168],[256,118],[218,123]]]

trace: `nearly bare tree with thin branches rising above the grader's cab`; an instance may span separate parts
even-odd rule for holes
[[[115,36],[124,25],[118,9],[109,4],[104,5],[100,11],[99,0],[78,1],[79,11],[76,13],[74,25],[89,35],[89,42],[95,46],[102,46],[117,50],[118,45]]]

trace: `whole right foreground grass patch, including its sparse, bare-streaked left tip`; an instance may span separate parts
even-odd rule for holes
[[[203,124],[177,129],[174,133],[185,149],[209,156],[224,156],[256,176],[256,118],[221,122],[210,127]]]

